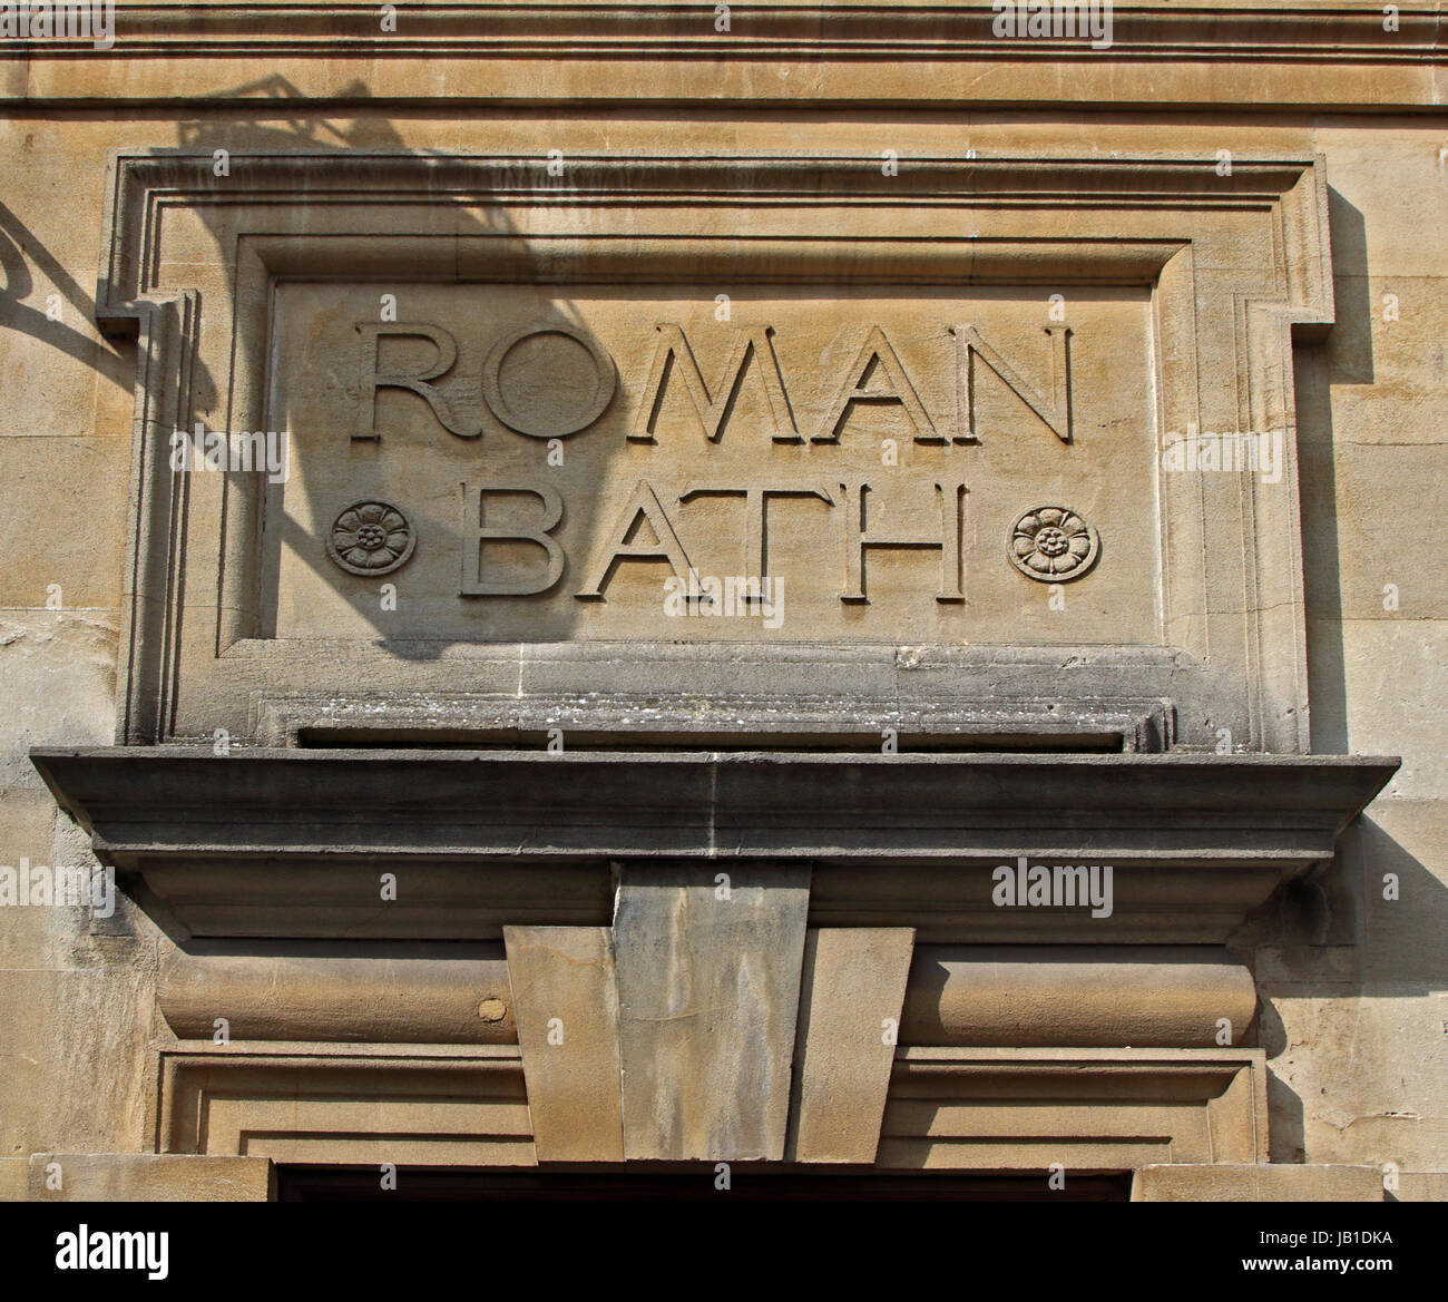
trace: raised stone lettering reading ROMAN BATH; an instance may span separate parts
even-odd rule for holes
[[[904,362],[891,345],[880,326],[870,326],[860,346],[854,350],[838,384],[834,401],[824,413],[818,429],[809,436],[809,445],[838,445],[841,432],[859,406],[896,407],[905,417],[912,437],[922,445],[969,445],[977,443],[975,366],[976,359],[990,368],[995,375],[1063,442],[1070,442],[1070,330],[1064,326],[1047,326],[1045,335],[1053,345],[1054,397],[1045,400],[1031,385],[1021,379],[1015,368],[1005,361],[970,324],[953,326],[950,333],[956,348],[957,401],[953,416],[954,429],[937,427],[925,410],[915,384]],[[378,439],[376,391],[400,388],[417,394],[432,408],[439,423],[458,437],[472,439],[482,430],[479,413],[459,410],[433,381],[445,377],[456,364],[458,345],[453,336],[433,324],[359,324],[362,337],[362,411],[353,439]],[[762,410],[767,413],[766,433],[773,443],[804,445],[805,437],[795,423],[785,377],[773,346],[772,326],[752,327],[734,332],[731,352],[718,372],[712,388],[704,377],[694,348],[678,323],[660,322],[654,326],[653,353],[647,381],[636,420],[628,430],[631,443],[657,446],[656,424],[660,406],[669,385],[682,388],[688,406],[696,417],[698,429],[708,443],[718,443],[725,433],[730,413],[736,406],[741,385],[752,379],[762,397]],[[410,371],[387,369],[379,362],[379,348],[387,336],[404,339],[427,339],[436,349],[436,358]],[[530,387],[514,385],[505,390],[502,365],[508,355],[530,340],[569,340],[588,355],[594,385],[586,400],[569,416],[543,414],[530,404]],[[615,388],[615,364],[613,356],[595,340],[579,330],[560,324],[540,324],[514,330],[500,339],[484,364],[481,395],[487,408],[515,433],[534,439],[563,439],[582,433],[608,408]],[[546,374],[531,381],[531,391],[546,385]],[[963,394],[963,397],[961,397]],[[752,432],[757,436],[757,430]],[[749,434],[744,434],[746,437]],[[838,508],[843,542],[843,579],[838,598],[843,602],[867,602],[866,558],[875,549],[914,549],[940,552],[940,585],[935,601],[963,601],[964,575],[961,568],[961,527],[964,524],[966,495],[969,488],[960,478],[944,478],[933,485],[940,498],[940,529],[931,536],[902,534],[869,523],[869,497],[872,485],[864,479],[835,481],[833,484],[694,484],[672,494],[668,500],[649,479],[639,479],[623,508],[605,532],[607,546],[586,575],[573,597],[581,601],[605,600],[610,579],[621,563],[668,562],[673,576],[688,584],[695,566],[681,540],[670,513],[679,505],[701,497],[741,497],[746,503],[743,549],[746,571],[750,578],[767,574],[766,537],[767,511],[772,500],[789,497],[811,497]],[[560,492],[546,482],[463,482],[462,520],[462,584],[463,597],[526,597],[549,591],[563,576],[566,556],[553,530],[563,518],[565,504]],[[527,527],[491,527],[485,523],[489,498],[502,494],[533,495],[542,504],[539,517]],[[666,505],[668,501],[668,505]],[[1074,517],[1072,517],[1074,518]],[[647,540],[639,534],[646,533]],[[533,578],[500,575],[491,572],[487,562],[489,542],[529,543],[540,547],[546,556],[546,569]],[[1012,562],[1030,578],[1041,578],[1034,565],[1022,563],[1021,555],[1012,552]],[[1073,545],[1072,560],[1079,559]],[[1095,559],[1095,556],[1092,558]],[[1077,566],[1080,572],[1089,566]],[[1047,569],[1044,574],[1051,574]]]

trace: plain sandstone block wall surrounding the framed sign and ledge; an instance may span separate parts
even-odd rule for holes
[[[1399,1196],[1442,1196],[1448,136],[1441,113],[1374,110],[1360,103],[1370,94],[1350,85],[1348,74],[1347,103],[1337,110],[1286,101],[1292,88],[1283,85],[1284,101],[1253,110],[1247,74],[1237,94],[1218,93],[1242,104],[1193,112],[1169,103],[1114,110],[1105,91],[1095,101],[1067,101],[1090,100],[1089,87],[1054,106],[1038,87],[1041,103],[1012,110],[989,103],[1006,94],[998,84],[977,104],[818,107],[770,103],[785,94],[776,90],[782,70],[760,72],[756,83],[737,65],[721,74],[731,97],[714,103],[524,101],[489,110],[475,101],[401,109],[387,98],[401,91],[397,68],[346,71],[358,72],[353,103],[314,107],[291,103],[297,91],[285,78],[295,72],[313,90],[339,80],[321,62],[297,62],[271,94],[248,90],[251,70],[213,67],[207,88],[216,98],[191,107],[167,103],[181,88],[167,88],[151,65],[135,77],[139,94],[159,103],[140,112],[107,104],[104,96],[126,93],[116,70],[100,78],[98,103],[46,101],[45,81],[59,72],[33,64],[35,88],[12,93],[0,110],[0,863],[90,862],[84,836],[56,811],[28,752],[107,744],[114,733],[136,356],[132,345],[101,340],[93,320],[107,149],[895,149],[902,161],[966,149],[1321,154],[1337,323],[1325,342],[1296,349],[1312,746],[1402,755],[1403,766],[1347,834],[1339,865],[1280,898],[1239,947],[1266,1001],[1257,1034],[1271,1073],[1271,1159],[1394,1163]],[[1226,64],[1218,71],[1235,75]],[[657,70],[660,83],[683,75]],[[524,94],[553,98],[559,91],[549,77],[533,68]],[[1302,80],[1293,85],[1300,90]],[[1322,97],[1331,103],[1331,88]],[[214,401],[220,410],[224,394]],[[1387,873],[1396,875],[1396,899],[1384,898]],[[125,899],[114,918],[94,924],[77,910],[3,911],[3,1196],[26,1196],[33,1153],[149,1147],[148,1046],[168,1034],[155,982],[169,949]]]

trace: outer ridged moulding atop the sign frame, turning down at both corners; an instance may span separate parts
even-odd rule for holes
[[[572,155],[566,178],[549,175],[543,155],[476,155],[418,149],[326,149],[251,154],[235,151],[230,175],[217,178],[210,152],[194,149],[111,151],[97,320],[104,332],[133,333],[135,319],[152,304],[138,300],[151,290],[155,268],[146,256],[156,211],[167,204],[258,206],[290,203],[304,209],[329,200],[353,206],[385,206],[400,197],[462,207],[472,203],[740,204],[788,201],[922,204],[1009,209],[1273,207],[1292,203],[1293,190],[1316,172],[1318,194],[1293,226],[1306,233],[1308,303],[1295,307],[1303,324],[1331,324],[1331,249],[1326,240],[1322,159],[1308,155],[1242,154],[1228,177],[1208,156],[1058,156],[998,154],[975,156],[908,155],[901,171],[883,175],[876,155]],[[245,181],[240,178],[245,177]],[[372,235],[371,239],[378,236]],[[639,242],[634,240],[634,245]],[[1129,242],[1118,240],[1122,256]],[[866,245],[856,242],[860,248]],[[728,242],[725,259],[738,261],[746,243]],[[1079,269],[1079,249],[1063,245]],[[1037,259],[1061,249],[1038,243]],[[1160,251],[1135,251],[1135,278],[1150,280],[1161,266]],[[982,258],[983,261],[983,258]],[[1150,275],[1142,268],[1150,264]],[[316,258],[308,266],[316,268]],[[546,274],[533,268],[533,277]],[[1012,268],[1019,281],[1019,268]]]

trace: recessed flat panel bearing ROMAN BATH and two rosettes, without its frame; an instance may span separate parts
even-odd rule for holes
[[[277,295],[278,637],[1157,637],[1142,290],[379,300]]]

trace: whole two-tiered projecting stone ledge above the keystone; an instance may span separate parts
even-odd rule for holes
[[[35,750],[96,853],[194,937],[497,940],[608,925],[610,862],[812,866],[809,924],[917,941],[1219,944],[1332,857],[1396,759]],[[1109,914],[1002,908],[1022,856],[1109,866]],[[381,899],[378,872],[398,878]],[[174,925],[172,925],[174,924]]]

